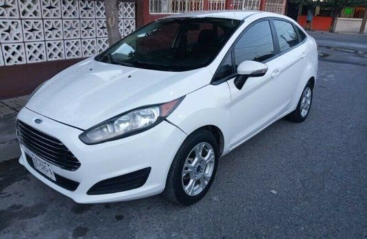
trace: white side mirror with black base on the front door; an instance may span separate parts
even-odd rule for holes
[[[268,66],[261,62],[245,60],[237,67],[237,77],[234,81],[237,89],[244,87],[249,77],[261,77],[268,71]]]

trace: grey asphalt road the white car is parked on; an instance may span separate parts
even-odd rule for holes
[[[0,238],[366,238],[366,92],[366,67],[320,61],[307,121],[276,122],[226,155],[191,207],[78,205],[3,162]]]

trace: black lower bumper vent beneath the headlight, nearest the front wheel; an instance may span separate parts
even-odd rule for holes
[[[97,184],[93,185],[92,188],[86,192],[86,194],[108,194],[140,188],[145,184],[145,181],[147,181],[147,177],[150,174],[150,169],[150,167],[143,168],[132,173],[99,181]]]

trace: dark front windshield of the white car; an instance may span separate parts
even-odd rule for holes
[[[167,18],[137,29],[95,60],[159,71],[189,71],[208,65],[239,20]]]

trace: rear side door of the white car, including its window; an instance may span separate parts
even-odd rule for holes
[[[306,71],[308,66],[307,45],[305,43],[305,34],[302,34],[300,29],[296,29],[293,23],[281,18],[274,18],[274,32],[276,39],[279,42],[279,58],[277,60],[283,62],[281,69],[281,78],[283,79],[283,94],[282,101],[287,103],[287,108],[292,108],[294,103],[298,102],[300,96],[296,96],[297,101],[292,101],[295,98],[296,89],[300,82],[305,82],[307,79]],[[300,32],[298,32],[298,30]]]

